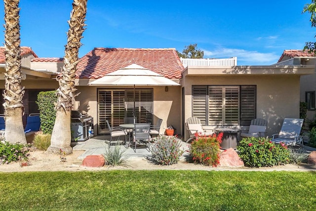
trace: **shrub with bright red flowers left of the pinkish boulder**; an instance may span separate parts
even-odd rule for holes
[[[199,136],[197,134],[190,147],[194,163],[216,167],[219,164],[222,137],[223,133],[219,133],[218,136],[215,133],[210,136]]]

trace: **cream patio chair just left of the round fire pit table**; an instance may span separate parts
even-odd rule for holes
[[[186,125],[190,133],[190,138],[186,143],[192,141],[196,137],[196,133],[200,135],[212,135],[214,133],[212,129],[203,129],[201,121],[197,117],[188,118]]]

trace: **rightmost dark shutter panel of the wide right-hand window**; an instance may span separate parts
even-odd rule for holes
[[[251,120],[256,119],[256,86],[240,86],[240,125],[249,126]]]

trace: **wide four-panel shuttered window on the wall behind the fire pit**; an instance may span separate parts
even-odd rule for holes
[[[203,125],[250,125],[256,118],[255,85],[193,85],[192,115]]]

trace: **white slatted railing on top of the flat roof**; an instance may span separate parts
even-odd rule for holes
[[[227,59],[184,59],[180,58],[183,66],[236,66],[237,57]]]

